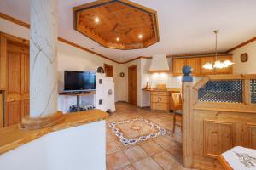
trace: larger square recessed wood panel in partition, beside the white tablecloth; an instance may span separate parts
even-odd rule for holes
[[[218,156],[234,146],[234,122],[204,121],[205,156]]]

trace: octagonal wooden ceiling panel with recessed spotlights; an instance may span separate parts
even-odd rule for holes
[[[73,20],[75,30],[106,48],[147,48],[159,42],[156,11],[128,0],[99,0],[74,7]]]

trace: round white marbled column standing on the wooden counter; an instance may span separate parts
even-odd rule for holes
[[[30,24],[30,116],[49,116],[57,111],[57,0],[32,0]]]

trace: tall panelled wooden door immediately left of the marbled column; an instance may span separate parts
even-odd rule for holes
[[[4,126],[20,122],[29,114],[29,48],[7,44],[7,88]]]

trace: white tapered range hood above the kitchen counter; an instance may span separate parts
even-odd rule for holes
[[[154,55],[151,59],[149,73],[170,72],[166,54]]]

